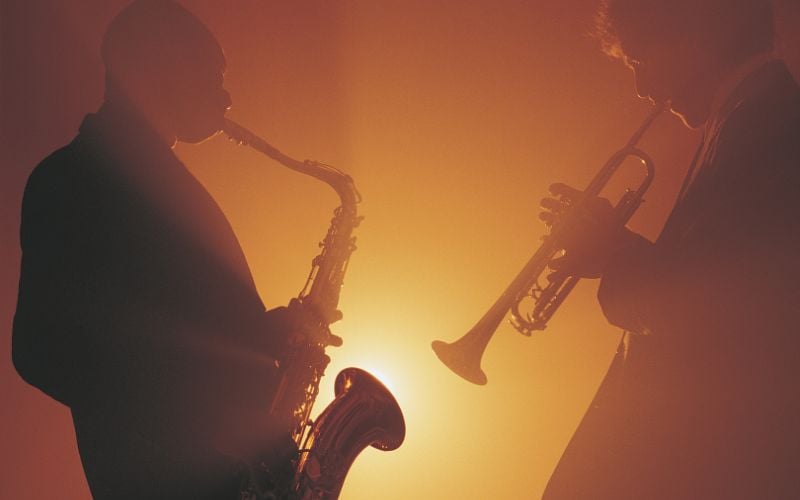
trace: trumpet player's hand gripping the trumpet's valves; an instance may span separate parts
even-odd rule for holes
[[[628,244],[632,233],[619,224],[605,198],[590,198],[577,206],[583,192],[561,183],[550,186],[550,195],[541,201],[544,211],[539,218],[555,233],[564,250],[551,261],[551,269],[599,278],[611,256]]]

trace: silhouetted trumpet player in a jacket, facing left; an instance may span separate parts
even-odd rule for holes
[[[606,0],[605,52],[704,137],[656,241],[554,184],[556,272],[600,278],[617,354],[544,498],[800,496],[800,88],[766,0]],[[565,222],[566,221],[566,222]]]

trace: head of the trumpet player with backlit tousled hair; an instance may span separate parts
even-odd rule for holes
[[[634,72],[636,91],[690,127],[708,119],[724,78],[772,51],[769,0],[601,0],[598,36]]]

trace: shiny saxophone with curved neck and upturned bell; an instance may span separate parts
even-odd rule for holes
[[[356,205],[361,197],[353,179],[340,170],[310,160],[289,158],[241,125],[225,120],[224,132],[231,140],[248,145],[297,172],[331,186],[341,205],[334,210],[331,225],[320,243],[321,252],[311,265],[303,290],[290,303],[307,307],[315,315],[315,340],[290,348],[281,361],[281,378],[272,398],[270,416],[287,429],[298,453],[289,464],[258,464],[248,474],[242,500],[336,499],[347,471],[367,446],[390,451],[405,438],[405,420],[391,392],[378,379],[359,368],[347,368],[336,377],[336,397],[319,415],[310,418],[319,393],[319,383],[330,358],[325,347],[341,341],[330,332],[330,324],[341,318],[339,294],[356,249],[353,230],[362,217]]]

